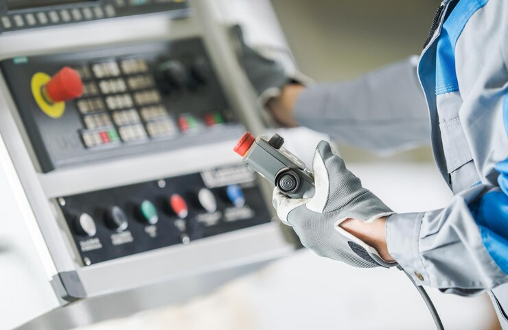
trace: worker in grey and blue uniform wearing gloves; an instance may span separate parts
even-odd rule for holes
[[[353,266],[398,265],[442,292],[488,290],[508,329],[508,1],[444,0],[419,59],[314,86],[299,84],[233,29],[240,64],[279,124],[374,151],[430,138],[454,193],[441,210],[397,214],[322,141],[314,196],[273,193],[279,218],[302,244]]]

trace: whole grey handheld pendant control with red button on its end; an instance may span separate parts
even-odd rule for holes
[[[291,198],[301,199],[314,195],[314,177],[301,160],[282,147],[284,138],[255,138],[246,132],[233,150],[243,162]]]

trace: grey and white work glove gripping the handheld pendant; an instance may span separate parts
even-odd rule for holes
[[[295,229],[303,246],[318,255],[356,267],[396,266],[385,262],[376,249],[340,228],[348,218],[372,222],[393,214],[376,195],[362,187],[360,179],[347,170],[330,144],[319,142],[312,162],[314,196],[291,199],[275,188],[273,206],[283,223]]]

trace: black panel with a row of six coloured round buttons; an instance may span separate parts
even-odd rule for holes
[[[57,201],[85,266],[270,221],[244,164]]]

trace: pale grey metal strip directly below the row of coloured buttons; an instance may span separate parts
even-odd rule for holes
[[[80,268],[87,296],[117,292],[157,281],[275,259],[293,247],[279,223],[240,229],[189,245],[169,246]]]

